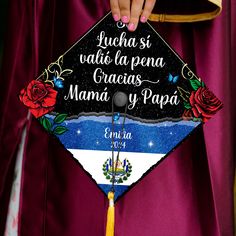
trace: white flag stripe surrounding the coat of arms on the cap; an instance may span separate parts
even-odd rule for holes
[[[74,158],[76,158],[83,168],[89,172],[98,184],[110,184],[109,180],[103,174],[103,164],[108,158],[111,158],[111,151],[79,150],[68,149]],[[114,152],[116,159],[117,152]],[[142,175],[153,165],[155,165],[165,154],[121,152],[119,159],[129,160],[132,166],[132,172],[128,180],[119,185],[131,185],[142,177]]]

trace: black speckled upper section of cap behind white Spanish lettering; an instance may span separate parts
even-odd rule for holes
[[[116,42],[120,40],[120,46],[105,47],[106,39],[101,41],[101,46],[98,46],[101,32],[104,32],[104,38],[107,37],[108,42],[114,38],[117,39]],[[129,39],[135,39],[137,46],[129,47],[122,43],[128,42]],[[151,46],[140,49],[141,41],[145,43],[148,41]],[[121,56],[127,57],[129,61],[127,66],[115,63],[118,51]],[[106,55],[109,56],[109,60],[112,60],[109,65],[104,61],[100,63]],[[97,58],[96,63],[83,61],[85,60],[83,58],[93,56]],[[140,60],[136,66],[135,58]],[[163,59],[163,67],[158,64],[158,58]],[[147,64],[149,59],[150,63]],[[141,65],[142,62],[146,63],[145,66]],[[153,65],[151,62],[156,64]],[[69,116],[77,116],[80,113],[111,112],[113,94],[123,91],[128,96],[137,96],[135,106],[129,107],[127,111],[133,119],[143,119],[143,121],[166,117],[179,119],[183,114],[184,105],[183,101],[178,99],[177,88],[180,86],[189,90],[189,84],[182,76],[183,66],[184,62],[149,24],[139,24],[135,32],[129,32],[126,27],[118,28],[111,14],[108,14],[63,55],[62,69],[71,69],[73,73],[63,81],[64,89],[57,89],[59,94],[54,111]],[[171,77],[176,80],[171,80]],[[91,96],[87,100],[84,98],[90,92],[101,95],[104,91],[109,97],[107,101],[92,99]],[[70,93],[73,96],[69,96]],[[178,99],[178,102],[171,104],[174,99]],[[132,105],[131,101],[129,105]],[[118,107],[116,111],[122,112]]]

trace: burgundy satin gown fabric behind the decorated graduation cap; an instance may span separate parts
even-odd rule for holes
[[[171,7],[171,5],[170,5]],[[20,236],[104,236],[107,199],[17,95],[109,10],[108,0],[11,0],[0,77],[0,235],[27,126]],[[233,235],[236,1],[213,21],[155,23],[224,108],[116,205],[116,236]]]

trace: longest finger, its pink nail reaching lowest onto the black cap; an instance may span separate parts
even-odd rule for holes
[[[139,16],[143,8],[143,2],[144,0],[133,0],[132,2],[131,16],[128,25],[128,30],[130,31],[135,31],[138,26]]]

